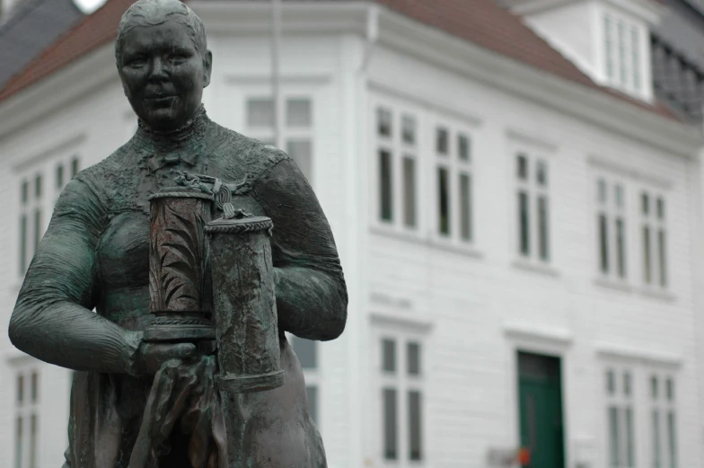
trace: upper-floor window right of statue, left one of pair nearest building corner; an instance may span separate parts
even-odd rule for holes
[[[408,110],[376,108],[378,219],[404,230],[418,228],[418,117]]]

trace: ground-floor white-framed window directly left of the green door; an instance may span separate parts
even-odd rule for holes
[[[406,466],[425,460],[423,347],[418,338],[379,341],[382,458]]]

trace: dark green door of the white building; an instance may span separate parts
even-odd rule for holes
[[[529,468],[565,468],[562,385],[559,358],[518,353],[521,445],[531,453]]]

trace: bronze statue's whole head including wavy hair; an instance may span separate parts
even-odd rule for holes
[[[132,109],[154,130],[182,127],[210,84],[206,31],[179,0],[138,0],[119,22],[115,57]]]

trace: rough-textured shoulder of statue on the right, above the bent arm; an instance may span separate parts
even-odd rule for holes
[[[222,137],[216,157],[227,173],[246,175],[248,180],[253,182],[263,177],[277,163],[289,159],[288,155],[276,146],[246,137],[229,128],[220,128]]]

